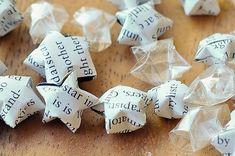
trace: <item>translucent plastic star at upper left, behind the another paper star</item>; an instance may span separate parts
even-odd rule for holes
[[[46,1],[33,3],[24,13],[33,43],[40,43],[50,31],[60,32],[69,15],[63,6]]]

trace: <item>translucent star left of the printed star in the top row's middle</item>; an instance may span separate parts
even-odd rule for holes
[[[96,8],[82,7],[73,17],[87,38],[91,51],[99,52],[112,44],[110,29],[116,21],[115,16]]]

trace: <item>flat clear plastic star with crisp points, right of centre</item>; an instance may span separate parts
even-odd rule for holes
[[[155,86],[177,79],[191,68],[175,50],[170,39],[132,47],[132,51],[137,63],[131,69],[131,74]]]

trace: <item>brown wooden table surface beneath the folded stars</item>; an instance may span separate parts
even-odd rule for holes
[[[198,42],[215,32],[230,32],[235,29],[235,7],[229,0],[221,0],[221,13],[217,17],[185,16],[177,0],[162,0],[156,9],[174,21],[173,28],[162,38],[174,37],[179,53],[192,64],[193,68],[181,79],[186,84],[201,73],[205,66],[193,62]],[[20,11],[35,2],[34,0],[17,0]],[[51,0],[62,4],[70,14],[82,6],[92,6],[115,13],[117,8],[106,0]],[[136,60],[130,52],[130,47],[119,45],[116,38],[121,27],[116,23],[112,28],[113,44],[101,53],[92,53],[97,69],[97,79],[81,84],[82,88],[96,96],[101,96],[106,90],[118,84],[128,85],[147,91],[152,86],[134,78],[129,74]],[[79,35],[79,30],[67,22],[63,32]],[[34,71],[22,64],[26,56],[35,48],[25,23],[0,39],[0,59],[8,66],[5,74],[29,75],[37,84],[41,78]],[[15,129],[0,121],[0,155],[79,155],[79,156],[145,156],[151,152],[154,156],[174,155],[205,155],[215,156],[219,153],[209,146],[194,154],[185,154],[175,149],[170,143],[168,132],[175,127],[178,120],[167,120],[153,114],[152,107],[147,110],[147,124],[140,130],[129,134],[108,135],[104,129],[104,119],[86,110],[82,124],[73,134],[59,120],[47,124],[41,122],[42,115],[29,117]]]

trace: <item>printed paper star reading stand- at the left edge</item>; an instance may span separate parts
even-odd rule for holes
[[[12,128],[44,109],[31,87],[30,77],[0,76],[0,116]]]

